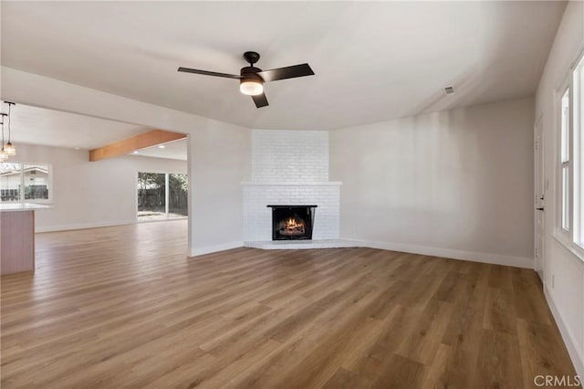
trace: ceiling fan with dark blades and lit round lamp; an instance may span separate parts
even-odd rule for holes
[[[313,76],[314,71],[308,64],[288,66],[286,68],[273,68],[262,70],[255,68],[254,64],[259,60],[259,54],[255,51],[246,51],[244,53],[246,62],[249,66],[241,68],[239,76],[236,74],[218,73],[216,71],[199,70],[196,68],[178,68],[178,71],[186,73],[203,74],[205,76],[223,77],[225,79],[239,79],[239,90],[248,96],[251,96],[255,102],[255,107],[266,107],[267,99],[264,93],[264,82],[277,81],[278,79],[295,79],[297,77]]]

